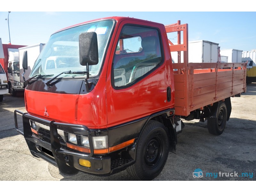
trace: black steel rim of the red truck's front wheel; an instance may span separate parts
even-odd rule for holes
[[[149,140],[144,153],[144,161],[148,168],[157,166],[163,156],[163,146],[163,141],[158,137]]]

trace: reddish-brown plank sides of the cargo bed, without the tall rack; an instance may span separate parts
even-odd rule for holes
[[[193,110],[245,92],[245,78],[244,63],[189,63],[184,74],[174,75],[176,115],[188,116]],[[187,90],[183,90],[185,82]]]

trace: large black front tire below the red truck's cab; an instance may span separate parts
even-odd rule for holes
[[[126,170],[136,180],[152,180],[163,170],[168,154],[167,128],[149,121],[137,144],[136,161]]]

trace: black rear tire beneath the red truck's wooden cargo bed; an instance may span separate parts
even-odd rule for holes
[[[207,127],[209,133],[213,135],[220,135],[223,133],[226,123],[227,123],[227,106],[225,102],[220,101],[218,108],[217,108],[217,113],[216,118],[214,117],[209,117],[207,120]],[[214,115],[215,116],[215,115]]]

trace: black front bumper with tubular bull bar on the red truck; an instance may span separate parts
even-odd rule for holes
[[[17,113],[22,115],[23,132],[18,128]],[[31,154],[55,165],[59,168],[60,172],[65,174],[75,174],[78,170],[92,174],[111,174],[114,171],[121,171],[134,163],[132,158],[121,158],[122,151],[116,151],[107,155],[94,155],[91,131],[84,125],[57,123],[23,113],[19,110],[14,111],[14,120],[16,131],[24,136]],[[42,139],[34,134],[31,131],[29,120],[49,126],[50,131],[47,132],[48,139]],[[90,143],[90,154],[67,148],[65,141],[60,136],[62,131],[87,135]],[[125,152],[127,151],[124,150]],[[91,167],[80,165],[79,159],[90,161]]]

